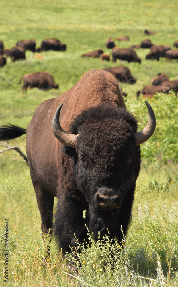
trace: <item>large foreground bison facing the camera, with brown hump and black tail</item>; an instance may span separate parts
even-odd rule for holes
[[[75,236],[79,242],[88,241],[85,224],[95,240],[108,228],[110,237],[117,236],[120,243],[121,225],[126,235],[140,144],[152,136],[156,125],[154,112],[146,105],[148,124],[137,132],[137,121],[126,110],[116,79],[103,70],[91,70],[60,97],[42,102],[27,129],[1,127],[0,140],[27,134],[41,227],[43,233],[52,232],[56,196],[54,234],[63,251],[76,246]]]

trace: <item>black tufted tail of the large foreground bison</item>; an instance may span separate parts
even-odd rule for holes
[[[9,141],[26,133],[26,129],[7,124],[0,126],[0,141]]]

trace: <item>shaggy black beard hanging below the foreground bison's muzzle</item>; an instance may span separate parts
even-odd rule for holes
[[[105,211],[97,210],[93,206],[89,207],[89,229],[93,232],[92,236],[95,241],[107,233],[107,228],[109,229],[109,234],[112,234],[116,228],[118,214],[118,208],[112,211]]]

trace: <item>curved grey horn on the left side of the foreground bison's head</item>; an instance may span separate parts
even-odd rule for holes
[[[59,122],[59,116],[60,116],[60,110],[62,108],[63,104],[61,104],[54,114],[53,120],[52,120],[52,130],[55,135],[55,137],[60,141],[62,144],[66,146],[70,146],[71,148],[75,148],[76,141],[78,135],[71,135],[70,133],[66,133]]]

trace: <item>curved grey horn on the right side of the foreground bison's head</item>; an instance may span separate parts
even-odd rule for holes
[[[136,138],[136,146],[139,146],[140,144],[143,144],[145,141],[147,141],[152,134],[154,133],[155,127],[156,127],[156,118],[153,112],[152,107],[148,102],[145,101],[145,104],[148,108],[148,123],[142,131],[139,131],[138,133],[135,133],[135,138]]]

